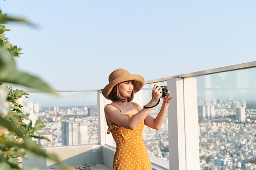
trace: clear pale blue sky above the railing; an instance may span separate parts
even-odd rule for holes
[[[256,1],[2,0],[0,7],[36,25],[10,22],[6,36],[23,48],[17,68],[53,89],[101,89],[117,68],[147,81],[256,59]]]

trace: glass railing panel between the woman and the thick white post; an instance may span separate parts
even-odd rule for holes
[[[146,105],[152,99],[152,89],[154,84],[158,84],[160,86],[166,85],[166,81],[145,84],[142,88],[142,104]],[[161,109],[163,100],[160,100],[158,106],[154,107],[150,112],[150,115],[156,117],[158,112]],[[141,106],[142,107],[142,106]],[[144,127],[143,130],[143,138],[147,148],[147,152],[149,155],[155,156],[157,158],[163,159],[165,161],[169,160],[169,148],[168,148],[168,114],[164,119],[164,122],[159,130],[155,130],[149,128],[147,126]]]

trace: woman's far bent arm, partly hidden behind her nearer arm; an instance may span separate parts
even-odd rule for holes
[[[154,117],[152,117],[151,115],[148,114],[146,116],[146,118],[144,119],[144,122],[145,122],[146,126],[151,127],[153,129],[160,129],[161,128],[161,126],[163,124],[163,121],[164,121],[164,118],[165,118],[166,113],[167,113],[169,103],[173,99],[173,94],[170,93],[170,91],[168,91],[168,95],[163,97],[162,99],[163,99],[163,104],[162,104],[162,107],[161,107],[159,113],[157,114],[157,117],[154,118]]]

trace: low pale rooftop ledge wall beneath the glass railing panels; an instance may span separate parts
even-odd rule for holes
[[[89,144],[89,145],[72,145],[63,147],[48,147],[44,148],[48,154],[56,154],[61,161],[68,164],[74,169],[85,170],[85,165],[90,165],[92,170],[99,169],[113,169],[113,158],[115,154],[115,148],[109,145],[100,144]],[[58,169],[61,170],[60,166],[47,158],[42,158],[29,153],[30,158],[24,159],[20,158],[23,167],[38,167],[40,169],[50,170]],[[161,160],[154,156],[150,156],[152,161],[153,169],[164,170],[168,169],[169,163],[167,161]],[[166,168],[160,167],[157,164],[166,166]]]

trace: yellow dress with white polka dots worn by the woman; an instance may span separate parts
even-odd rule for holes
[[[132,103],[139,111],[139,107]],[[115,105],[113,105],[115,106]],[[116,107],[116,106],[115,106]],[[119,111],[120,109],[116,107]],[[131,118],[134,114],[124,114]],[[144,121],[135,129],[126,129],[116,124],[111,124],[108,134],[111,132],[116,142],[116,153],[113,160],[113,169],[143,169],[152,170],[150,157],[148,156],[142,131]]]

